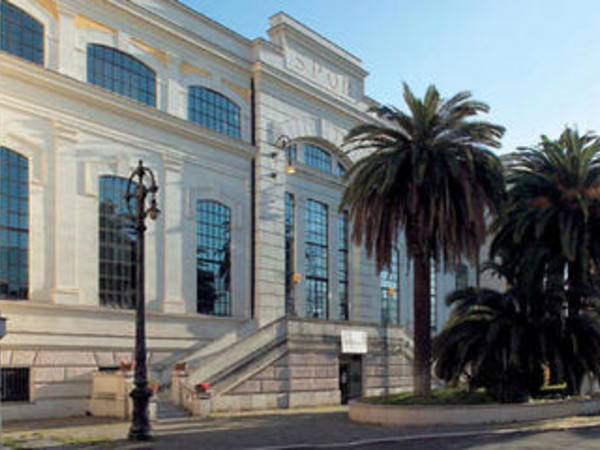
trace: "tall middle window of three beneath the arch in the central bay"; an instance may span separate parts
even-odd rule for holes
[[[329,316],[328,219],[327,205],[306,202],[306,315],[326,319]]]

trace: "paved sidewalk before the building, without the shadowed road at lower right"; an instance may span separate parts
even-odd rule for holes
[[[126,440],[129,423],[77,418],[4,426],[8,448],[277,449],[348,448],[376,442],[410,442],[435,437],[468,437],[597,427],[600,417],[571,417],[529,424],[444,427],[382,427],[355,424],[342,408],[281,410],[184,419],[153,424],[154,439]],[[336,445],[339,444],[339,445]]]

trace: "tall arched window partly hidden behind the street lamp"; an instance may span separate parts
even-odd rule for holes
[[[99,180],[99,297],[100,305],[135,306],[137,238],[124,198],[128,180],[102,176]]]

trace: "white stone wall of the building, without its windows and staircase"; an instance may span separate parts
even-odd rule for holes
[[[307,200],[318,200],[329,214],[329,317],[339,317],[337,217],[344,184],[301,161],[287,173],[275,142],[281,135],[312,142],[350,164],[344,135],[373,120],[360,60],[281,13],[270,19],[267,41],[241,37],[174,0],[10,3],[43,25],[45,58],[36,65],[0,52],[0,145],[27,158],[30,205],[29,295],[0,301],[8,319],[1,365],[31,369],[30,401],[5,403],[5,420],[84,414],[91,372],[131,359],[133,311],[99,303],[98,179],[127,177],[139,159],[157,175],[162,210],[146,235],[148,349],[156,373],[248,323],[260,327],[285,314],[285,192],[295,195],[298,212],[296,309],[302,317],[302,211]],[[89,43],[149,66],[156,73],[156,107],[88,83]],[[191,85],[239,106],[240,139],[187,120]],[[196,312],[194,205],[202,199],[231,211],[228,317]],[[346,326],[372,328],[381,319],[379,277],[361,249],[351,246],[349,261]],[[409,279],[403,271],[400,318],[410,328]],[[439,274],[438,326],[453,283]],[[325,384],[335,390],[335,366],[325,372]]]

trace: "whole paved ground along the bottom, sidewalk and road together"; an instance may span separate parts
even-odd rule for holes
[[[348,420],[343,408],[266,412],[154,424],[151,442],[125,440],[129,424],[95,418],[6,424],[8,448],[502,449],[598,448],[600,418],[487,427],[382,427]]]

